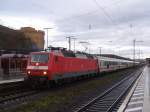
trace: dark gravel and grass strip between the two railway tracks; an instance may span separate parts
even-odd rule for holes
[[[93,97],[128,76],[135,69],[126,69],[103,74],[87,80],[80,80],[52,88],[35,95],[7,112],[72,112]]]

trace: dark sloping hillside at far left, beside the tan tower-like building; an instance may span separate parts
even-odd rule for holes
[[[31,45],[20,31],[0,25],[0,50],[30,50]]]

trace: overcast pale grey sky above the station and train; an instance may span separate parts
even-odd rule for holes
[[[150,57],[149,0],[1,0],[0,24],[50,27],[49,45],[68,48],[65,37],[75,36],[77,50],[130,58],[136,39],[136,58]]]

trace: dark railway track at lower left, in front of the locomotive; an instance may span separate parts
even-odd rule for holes
[[[13,103],[27,100],[27,97],[39,93],[38,90],[27,88],[23,82],[0,85],[0,111]]]

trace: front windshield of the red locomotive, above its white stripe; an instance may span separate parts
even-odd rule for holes
[[[31,55],[31,62],[47,63],[48,59],[49,59],[48,54],[32,54]]]

